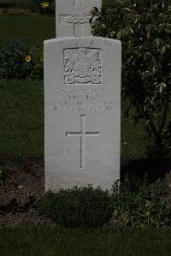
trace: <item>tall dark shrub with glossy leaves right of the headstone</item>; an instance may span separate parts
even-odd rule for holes
[[[171,5],[166,0],[117,1],[115,9],[91,11],[92,34],[122,43],[122,96],[135,122],[155,139],[155,156],[171,157]],[[153,135],[153,136],[151,136]]]

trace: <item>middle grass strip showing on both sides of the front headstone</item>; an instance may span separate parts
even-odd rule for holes
[[[0,155],[44,156],[43,82],[9,81],[0,85]],[[127,103],[122,102],[122,113]],[[121,157],[144,158],[148,140],[142,123],[121,116]]]

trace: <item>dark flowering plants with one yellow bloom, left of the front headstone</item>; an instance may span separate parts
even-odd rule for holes
[[[36,56],[34,51],[21,40],[1,43],[0,79],[43,80],[43,56]]]

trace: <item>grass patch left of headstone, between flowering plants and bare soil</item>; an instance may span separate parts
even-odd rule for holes
[[[0,155],[43,156],[43,83],[0,84]]]

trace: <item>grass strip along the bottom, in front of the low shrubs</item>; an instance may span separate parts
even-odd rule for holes
[[[0,229],[2,256],[170,256],[171,229]]]

